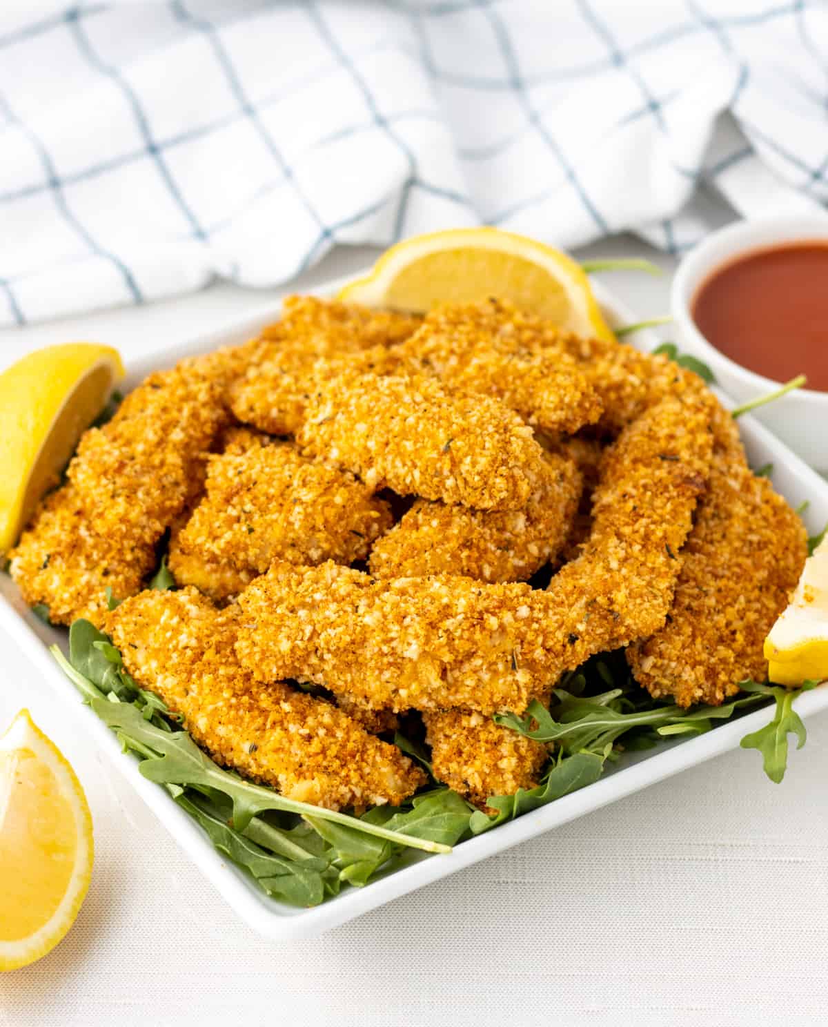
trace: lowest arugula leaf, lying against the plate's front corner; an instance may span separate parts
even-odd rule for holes
[[[199,799],[182,793],[176,802],[196,821],[210,840],[256,878],[264,890],[293,906],[317,906],[325,897],[322,867],[294,863],[266,851],[250,837],[239,834],[205,807]],[[322,862],[322,861],[317,861]]]

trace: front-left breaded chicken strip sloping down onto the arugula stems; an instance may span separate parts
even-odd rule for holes
[[[339,809],[399,805],[425,776],[399,749],[330,702],[257,682],[233,651],[237,610],[194,588],[143,592],[104,627],[129,674],[182,714],[217,763],[301,802]]]

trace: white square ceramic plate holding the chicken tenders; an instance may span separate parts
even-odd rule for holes
[[[341,284],[342,282],[332,282],[328,288],[321,289],[319,293],[333,295]],[[596,286],[595,292],[610,324],[632,324],[638,319],[606,290]],[[277,305],[269,307],[220,332],[176,346],[164,354],[163,359],[139,362],[128,369],[125,387],[135,387],[151,371],[175,364],[184,356],[242,342],[263,325],[274,320],[278,314]],[[640,349],[651,349],[657,343],[646,332],[638,333],[630,341]],[[727,403],[726,397],[722,398]],[[739,423],[752,465],[773,463],[776,488],[793,506],[798,506],[807,499],[810,506],[805,520],[808,531],[812,534],[821,531],[828,522],[828,482],[807,467],[757,421],[746,416]],[[123,754],[115,735],[88,707],[81,705],[74,685],[64,677],[47,650],[52,642],[59,642],[66,648],[66,632],[49,627],[38,620],[21,599],[16,585],[5,575],[0,576],[0,625],[16,641],[43,677],[52,683],[55,692],[72,708],[89,737],[110,754],[113,764],[230,906],[257,931],[273,939],[318,935],[368,910],[376,909],[398,896],[453,874],[461,867],[502,852],[559,824],[573,821],[680,770],[736,749],[743,735],[766,724],[771,716],[767,709],[757,710],[739,720],[725,721],[706,734],[676,740],[644,753],[631,754],[608,767],[604,776],[594,785],[464,841],[449,855],[422,857],[412,853],[407,865],[380,876],[364,888],[345,887],[339,896],[313,909],[294,909],[259,891],[250,878],[217,852],[201,829],[176,805],[161,787],[141,775],[138,761],[133,756]],[[828,709],[828,687],[803,694],[797,699],[796,709],[803,718]],[[756,760],[757,756],[755,753],[745,754],[745,759]],[[761,773],[758,763],[756,772]]]

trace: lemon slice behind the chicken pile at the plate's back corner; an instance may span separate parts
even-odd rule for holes
[[[425,313],[435,303],[496,296],[567,332],[613,339],[584,270],[571,257],[498,228],[415,235],[387,250],[339,299]]]

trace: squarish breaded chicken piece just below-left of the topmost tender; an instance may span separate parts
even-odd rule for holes
[[[210,595],[226,598],[238,582],[230,573],[232,587],[220,595],[222,581],[211,566],[250,580],[273,560],[350,564],[365,559],[390,525],[388,504],[349,471],[308,460],[290,443],[236,429],[225,451],[208,461],[204,497],[175,538],[171,568],[177,580],[197,584],[187,576],[187,558],[194,558],[213,578]]]

